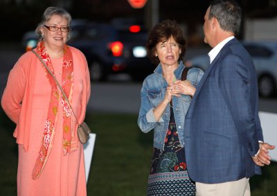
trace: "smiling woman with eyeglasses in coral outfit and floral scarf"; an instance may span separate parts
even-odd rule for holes
[[[66,10],[46,8],[36,29],[35,52],[55,75],[81,124],[91,88],[86,58],[66,45],[70,23]],[[17,195],[87,195],[78,123],[33,52],[22,55],[10,71],[1,105],[17,125],[13,133],[19,148]]]

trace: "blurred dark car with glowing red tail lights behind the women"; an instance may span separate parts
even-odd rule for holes
[[[72,27],[71,35],[68,44],[84,53],[94,81],[118,73],[127,73],[134,80],[141,80],[154,70],[146,57],[148,32],[141,23],[123,19],[111,23],[85,23]],[[33,45],[36,46],[32,44],[27,48]]]

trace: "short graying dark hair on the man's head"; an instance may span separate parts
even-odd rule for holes
[[[210,3],[208,19],[215,17],[220,23],[220,28],[233,32],[235,35],[240,31],[242,10],[238,3],[233,0],[215,0]]]

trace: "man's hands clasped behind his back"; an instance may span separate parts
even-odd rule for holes
[[[257,166],[265,166],[270,164],[271,157],[268,155],[269,150],[273,150],[275,146],[272,146],[267,143],[260,143],[260,151],[259,153],[255,156],[252,157],[254,163]]]

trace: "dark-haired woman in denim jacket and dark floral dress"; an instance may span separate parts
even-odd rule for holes
[[[154,129],[154,153],[148,179],[148,195],[195,195],[184,154],[184,120],[195,87],[204,75],[185,68],[182,57],[186,40],[175,21],[162,21],[151,30],[146,44],[148,57],[158,66],[141,89],[138,124],[143,133]]]

